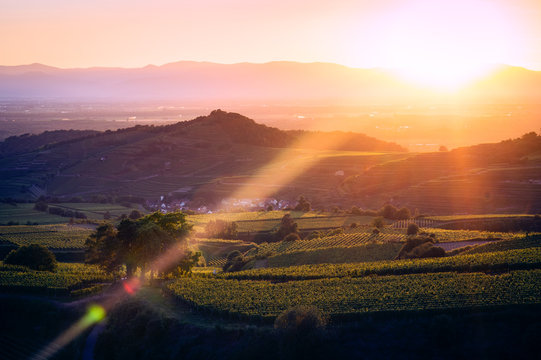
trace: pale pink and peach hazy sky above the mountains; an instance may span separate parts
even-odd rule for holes
[[[540,19],[540,0],[0,0],[0,64],[295,60],[541,70]]]

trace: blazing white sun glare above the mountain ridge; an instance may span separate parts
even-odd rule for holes
[[[415,1],[385,12],[372,31],[377,63],[412,85],[458,90],[517,53],[514,26],[488,2]]]

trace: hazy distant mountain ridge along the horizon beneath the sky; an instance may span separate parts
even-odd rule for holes
[[[464,89],[480,99],[541,99],[541,72],[501,67]],[[142,68],[0,66],[0,98],[389,102],[427,96],[383,69],[277,61],[181,61]]]

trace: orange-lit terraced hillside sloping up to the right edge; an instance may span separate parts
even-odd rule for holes
[[[344,181],[356,197],[387,200],[423,212],[541,211],[541,136],[419,154],[374,166]]]

